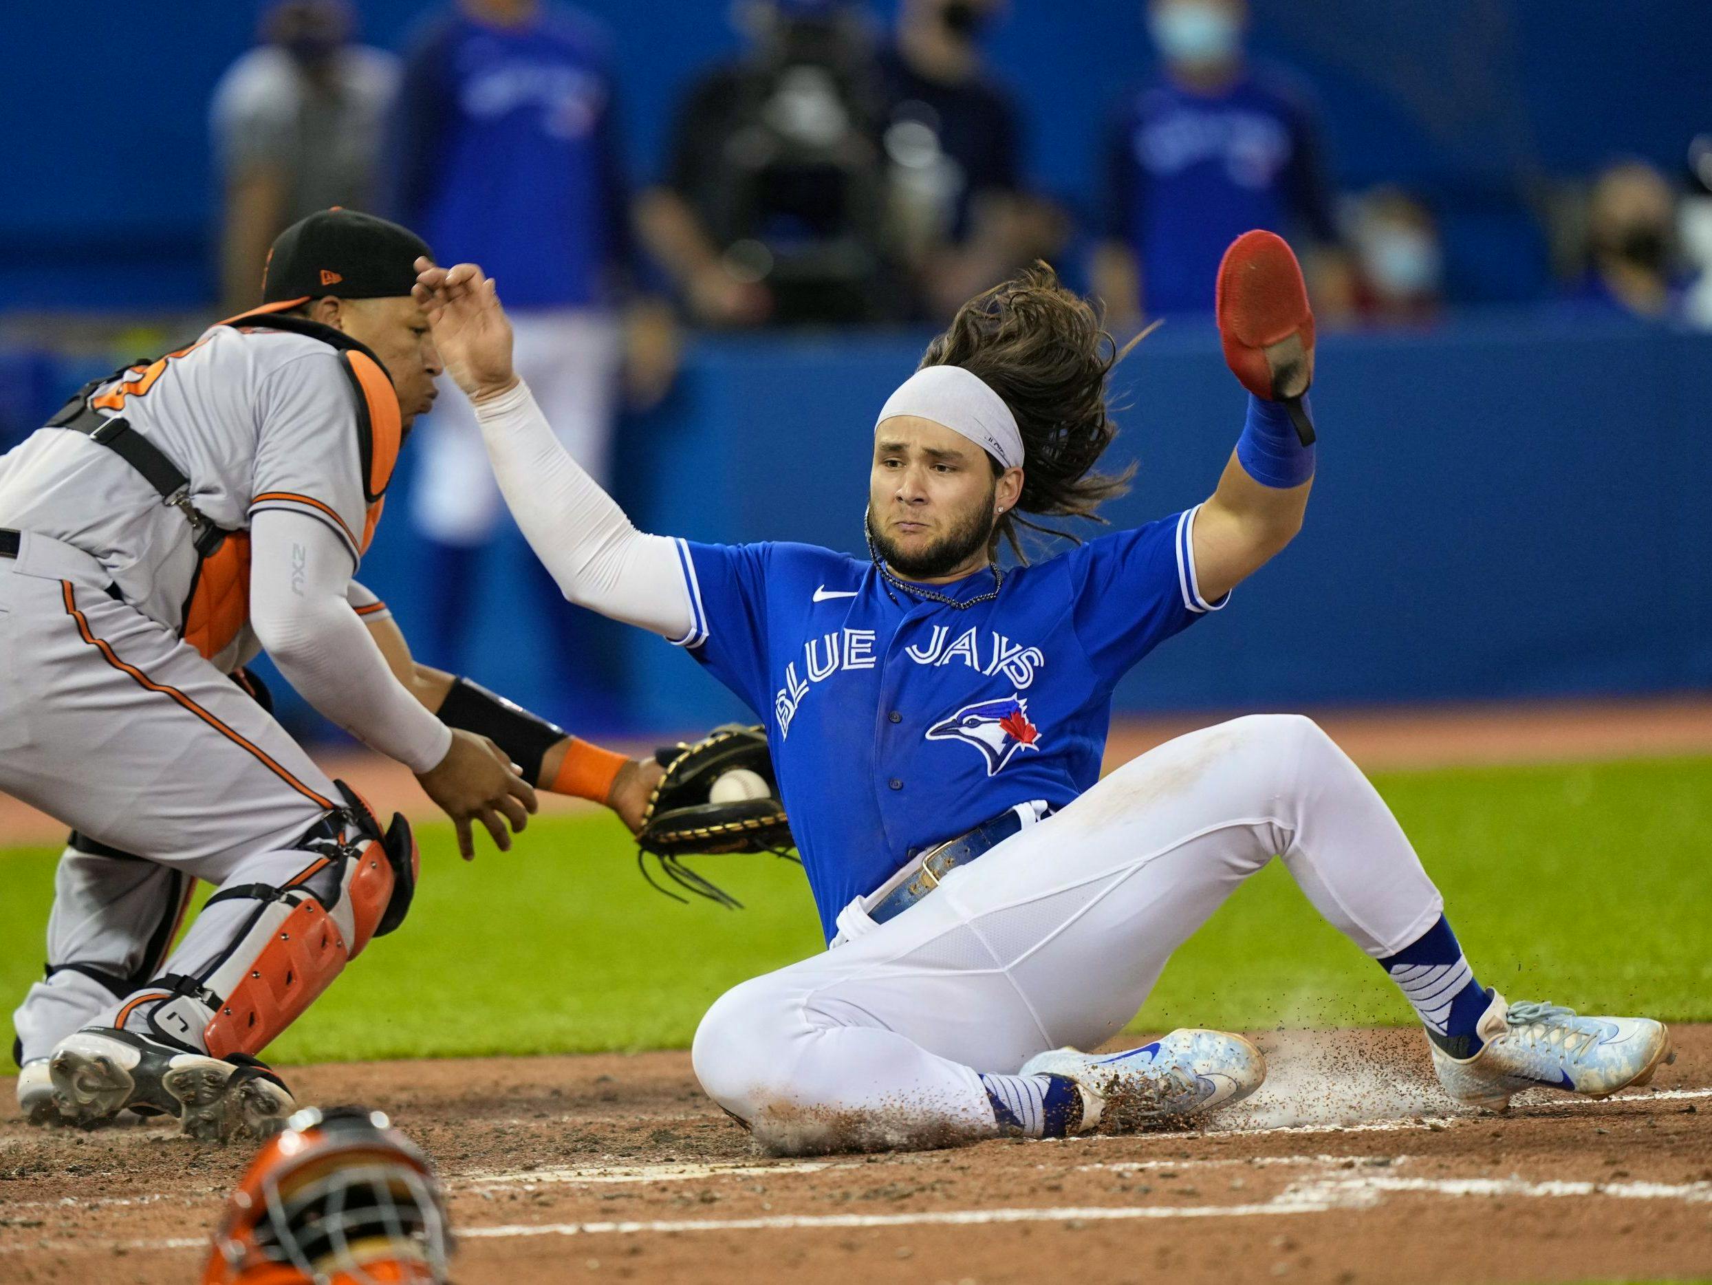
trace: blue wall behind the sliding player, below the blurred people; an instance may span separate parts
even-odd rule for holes
[[[919,335],[702,340],[671,402],[623,429],[635,522],[702,541],[861,548],[871,416]],[[1245,394],[1210,323],[1121,368],[1113,462],[1133,525],[1202,500]],[[1320,347],[1320,474],[1301,537],[1231,606],[1161,647],[1120,710],[1486,700],[1712,688],[1712,337],[1539,317]],[[407,479],[406,479],[407,484]],[[397,517],[404,517],[399,513]],[[406,625],[423,570],[389,520],[365,578]],[[517,560],[478,590],[478,676],[551,705]],[[625,631],[628,712],[690,727],[738,705],[668,643]]]

